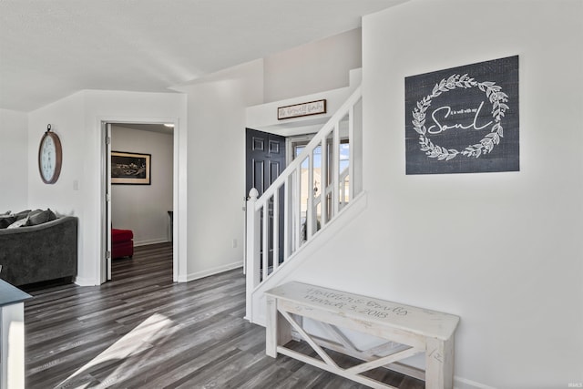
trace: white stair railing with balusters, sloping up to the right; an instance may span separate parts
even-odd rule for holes
[[[247,318],[251,294],[362,190],[358,87],[258,199],[247,201]],[[282,226],[282,228],[281,228]]]

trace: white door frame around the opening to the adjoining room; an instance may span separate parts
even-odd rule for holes
[[[111,150],[107,147],[107,124],[165,124],[174,125],[173,131],[173,166],[172,166],[172,211],[174,215],[172,226],[172,279],[174,282],[187,281],[186,266],[186,241],[182,239],[182,230],[186,230],[186,218],[181,217],[181,211],[186,210],[186,196],[181,190],[186,186],[179,186],[179,177],[186,175],[186,165],[179,163],[184,156],[180,153],[179,142],[179,118],[118,118],[103,117],[97,118],[99,134],[99,155],[101,166],[101,179],[99,179],[99,214],[101,218],[98,239],[100,242],[100,251],[97,257],[96,274],[100,283],[107,282],[107,234],[111,233],[111,222],[107,215],[107,192],[111,187],[111,178],[107,174],[108,162],[111,160]],[[183,188],[184,187],[184,188]]]

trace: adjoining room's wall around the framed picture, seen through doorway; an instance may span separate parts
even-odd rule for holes
[[[111,187],[113,227],[132,230],[136,246],[170,240],[173,143],[171,133],[111,127],[112,150],[151,155],[151,185]]]

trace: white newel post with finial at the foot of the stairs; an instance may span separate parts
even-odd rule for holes
[[[247,295],[246,295],[246,319],[253,322],[252,309],[252,292],[259,285],[259,261],[260,261],[260,244],[261,244],[261,217],[260,211],[255,210],[255,203],[259,197],[259,192],[255,188],[249,191],[249,199],[247,200],[247,255],[246,255],[246,270],[247,270]]]

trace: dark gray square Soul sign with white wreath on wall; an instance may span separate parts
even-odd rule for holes
[[[405,77],[406,174],[518,171],[518,56]]]

